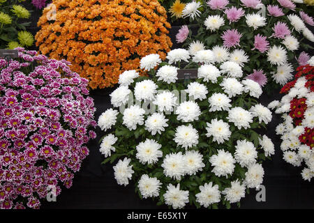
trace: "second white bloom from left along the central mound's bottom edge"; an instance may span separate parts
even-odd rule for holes
[[[144,198],[158,197],[161,185],[160,180],[156,177],[151,178],[147,174],[143,174],[138,181],[138,189]]]

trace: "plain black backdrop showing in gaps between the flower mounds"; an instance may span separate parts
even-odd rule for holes
[[[38,31],[36,22],[40,17],[40,10],[36,10],[29,3],[27,8],[32,9],[32,24],[29,31],[33,34]],[[175,34],[179,26],[173,26],[170,36],[174,43],[173,48],[179,47],[175,43]],[[34,47],[33,49],[36,49]],[[96,120],[102,112],[110,108],[110,93],[112,89],[91,91],[91,97],[95,100]],[[273,95],[262,95],[260,98],[263,105],[281,98],[278,90]],[[313,180],[311,183],[301,178],[303,167],[293,167],[287,164],[282,158],[283,153],[280,149],[281,140],[276,136],[275,128],[280,123],[279,116],[274,115],[269,123],[267,134],[274,142],[276,153],[271,161],[263,163],[264,183],[266,187],[266,202],[255,200],[256,191],[250,191],[244,199],[241,199],[241,208],[314,208]],[[43,201],[41,208],[167,208],[167,206],[156,206],[156,202],[151,199],[140,200],[135,194],[133,183],[124,187],[117,185],[114,179],[112,164],[101,165],[104,157],[99,152],[98,141],[103,132],[100,128],[96,129],[97,139],[89,142],[89,156],[84,160],[82,169],[75,175],[73,187],[63,188],[57,202]],[[188,207],[193,208],[193,207]],[[232,206],[232,208],[236,208]]]

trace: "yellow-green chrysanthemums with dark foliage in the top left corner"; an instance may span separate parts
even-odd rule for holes
[[[29,10],[17,1],[0,0],[0,49],[31,47],[33,35],[26,31],[31,22],[20,22],[29,19]]]

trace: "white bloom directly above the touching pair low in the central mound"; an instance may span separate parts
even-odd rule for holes
[[[174,135],[174,141],[178,146],[189,148],[198,144],[198,133],[192,125],[180,125]]]

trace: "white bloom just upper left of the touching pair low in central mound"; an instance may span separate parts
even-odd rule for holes
[[[154,139],[146,139],[136,146],[136,157],[142,164],[154,164],[158,158],[163,157],[161,145]]]

